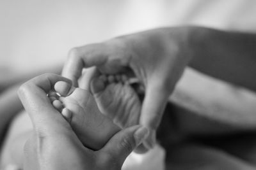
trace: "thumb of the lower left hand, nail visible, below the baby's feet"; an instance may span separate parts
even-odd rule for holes
[[[140,145],[147,135],[148,129],[141,125],[129,127],[115,134],[101,151],[108,153],[122,166],[132,150]]]

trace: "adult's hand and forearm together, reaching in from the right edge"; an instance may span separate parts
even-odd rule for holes
[[[143,143],[150,148],[168,96],[186,66],[256,90],[255,44],[255,34],[204,27],[154,29],[73,48],[63,76],[76,84],[82,69],[91,66],[104,74],[135,74],[145,87],[140,124],[150,129]]]

